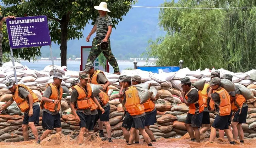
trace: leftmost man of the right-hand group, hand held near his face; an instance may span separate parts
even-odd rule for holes
[[[184,103],[189,107],[189,113],[185,120],[185,126],[187,132],[191,138],[191,141],[200,142],[199,128],[202,126],[203,119],[203,97],[200,90],[191,86],[189,78],[181,79],[182,96]],[[195,135],[194,135],[195,132]]]

